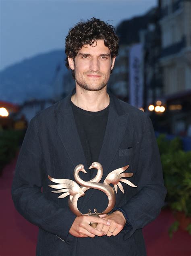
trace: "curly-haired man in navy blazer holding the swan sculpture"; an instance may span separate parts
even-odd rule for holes
[[[37,255],[146,255],[141,229],[158,216],[166,195],[152,123],[107,92],[118,54],[112,26],[96,18],[78,23],[65,51],[76,89],[31,120],[12,185],[15,207],[39,227]],[[93,179],[92,162],[102,164],[100,183],[128,164],[125,173],[134,173],[129,180],[137,186],[123,183],[125,194],[118,191],[115,208],[101,218],[76,216],[68,198],[58,198],[48,186],[48,175],[74,180],[77,164],[87,171],[81,179]],[[78,208],[83,214],[103,212],[107,204],[104,193],[89,189]]]

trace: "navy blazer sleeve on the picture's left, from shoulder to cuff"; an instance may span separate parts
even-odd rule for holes
[[[17,160],[12,199],[25,219],[65,240],[76,216],[69,208],[60,208],[42,193],[43,176],[42,148],[32,119]]]

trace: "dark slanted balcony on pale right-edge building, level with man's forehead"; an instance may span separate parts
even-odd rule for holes
[[[186,47],[186,38],[182,37],[182,40],[176,44],[171,44],[170,46],[162,49],[161,58],[167,57],[169,55],[176,54]]]

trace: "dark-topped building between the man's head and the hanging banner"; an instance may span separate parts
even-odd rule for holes
[[[147,24],[152,20],[153,8],[145,15],[122,21],[116,28],[119,37],[119,55],[116,58],[115,67],[110,77],[109,87],[120,99],[129,102],[129,54],[131,47],[140,43],[139,31],[147,29]]]

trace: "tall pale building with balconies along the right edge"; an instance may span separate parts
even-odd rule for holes
[[[191,129],[191,1],[161,0],[160,65],[170,133]]]

